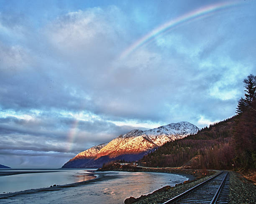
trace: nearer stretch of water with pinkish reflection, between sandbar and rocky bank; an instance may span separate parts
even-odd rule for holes
[[[92,176],[90,172],[78,172],[72,177],[80,179]],[[20,194],[1,200],[3,203],[123,203],[130,196],[139,197],[163,186],[174,186],[187,180],[177,174],[149,172],[95,172],[96,179],[88,180],[76,187],[61,188],[54,192]]]

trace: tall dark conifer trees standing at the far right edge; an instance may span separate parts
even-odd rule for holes
[[[256,75],[249,75],[243,80],[245,99],[238,101],[239,118],[233,134],[236,160],[241,168],[256,168]]]

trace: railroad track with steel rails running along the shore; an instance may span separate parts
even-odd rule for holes
[[[164,202],[169,203],[228,203],[229,174],[222,171],[205,182],[179,194],[178,196]]]

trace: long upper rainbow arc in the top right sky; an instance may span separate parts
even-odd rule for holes
[[[197,17],[204,17],[207,14],[217,12],[218,10],[225,9],[227,7],[236,6],[240,3],[241,3],[241,1],[216,3],[216,4],[208,5],[206,7],[199,8],[197,10],[193,10],[193,11],[188,12],[188,13],[180,16],[180,17],[177,17],[173,20],[170,20],[169,22],[166,22],[166,23],[160,25],[159,27],[155,28],[151,32],[148,32],[148,34],[144,35],[139,40],[134,42],[131,46],[126,48],[121,53],[120,59],[123,59],[123,58],[127,57],[132,52],[134,52],[136,49],[138,49],[138,47],[141,47],[142,45],[144,45],[149,40],[153,39],[154,37],[156,37],[160,33],[164,32],[166,30],[169,30],[170,28],[172,28],[174,26],[177,26],[181,23],[184,23],[184,22],[187,22],[189,20],[195,19]]]

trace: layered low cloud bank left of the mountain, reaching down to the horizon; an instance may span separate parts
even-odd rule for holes
[[[80,118],[76,119],[67,113],[33,112],[29,117],[26,114],[9,116],[13,112],[1,112],[2,164],[11,167],[61,167],[77,153],[95,144],[110,142],[134,128],[117,126],[85,113],[80,113]],[[40,163],[38,159],[44,162]]]

